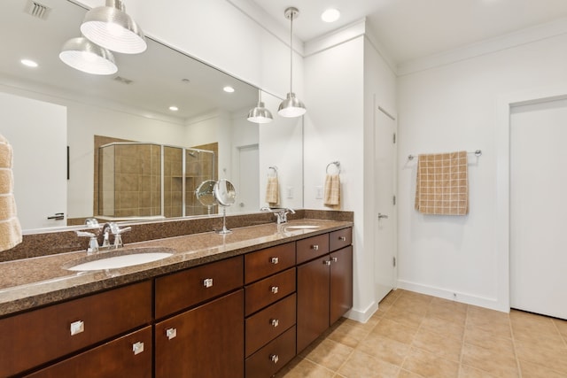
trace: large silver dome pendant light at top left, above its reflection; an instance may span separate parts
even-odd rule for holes
[[[81,32],[90,41],[116,52],[138,54],[148,47],[144,32],[124,11],[120,0],[91,9],[82,21]]]

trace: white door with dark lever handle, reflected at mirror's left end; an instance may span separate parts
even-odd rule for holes
[[[66,226],[66,114],[65,106],[0,93],[0,134],[12,144],[22,229]]]

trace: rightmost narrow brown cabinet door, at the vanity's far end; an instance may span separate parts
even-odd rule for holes
[[[330,324],[353,307],[353,246],[330,254]]]

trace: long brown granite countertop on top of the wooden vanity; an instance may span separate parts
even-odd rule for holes
[[[292,228],[298,225],[317,228]],[[91,258],[85,251],[3,262],[0,263],[0,317],[351,226],[350,221],[302,219],[279,226],[268,223],[233,228],[228,235],[207,232],[129,243],[123,251],[156,247],[171,249],[174,254],[151,263],[109,270],[67,270],[66,267]],[[100,252],[105,253],[113,252]]]

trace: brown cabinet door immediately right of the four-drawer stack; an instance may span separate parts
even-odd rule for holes
[[[329,255],[298,266],[298,352],[329,328]]]

